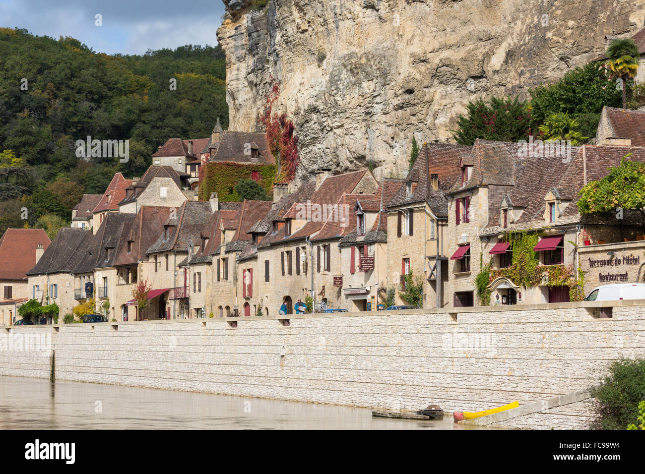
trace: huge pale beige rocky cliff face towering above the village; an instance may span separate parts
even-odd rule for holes
[[[302,173],[408,168],[417,142],[452,141],[469,100],[559,79],[637,31],[645,0],[223,0],[232,130],[274,110],[299,137]]]

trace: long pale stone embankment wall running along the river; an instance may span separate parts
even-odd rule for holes
[[[645,301],[276,317],[15,326],[0,375],[412,410],[479,411],[586,390],[612,360],[645,356]],[[51,335],[51,347],[10,346]],[[14,339],[10,339],[14,338]],[[578,406],[579,405],[579,406]],[[522,428],[581,428],[584,404]],[[518,428],[513,420],[505,424]]]

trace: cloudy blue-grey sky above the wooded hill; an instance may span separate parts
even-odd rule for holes
[[[0,27],[71,36],[107,54],[215,46],[223,14],[222,0],[0,0]]]

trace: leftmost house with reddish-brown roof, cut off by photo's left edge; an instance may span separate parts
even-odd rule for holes
[[[50,239],[43,229],[7,229],[0,237],[0,324],[14,324],[18,306],[32,297],[26,273]]]

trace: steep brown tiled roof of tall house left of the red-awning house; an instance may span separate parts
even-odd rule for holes
[[[402,180],[399,190],[386,204],[387,208],[428,202],[435,215],[445,217],[448,212],[448,201],[444,192],[448,191],[457,177],[461,176],[459,161],[462,156],[468,155],[471,146],[453,145],[448,143],[424,143],[419,150],[419,155],[412,165],[408,177]],[[432,189],[431,175],[439,177],[439,190]],[[406,187],[413,181],[412,195],[406,196]]]

